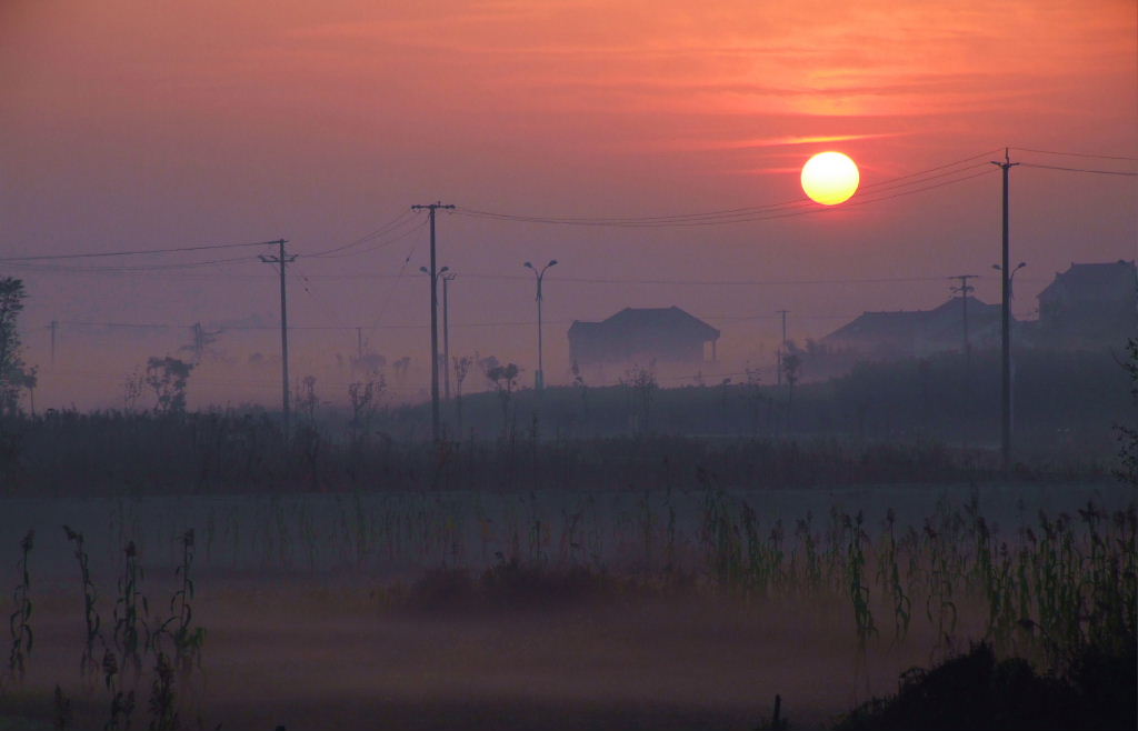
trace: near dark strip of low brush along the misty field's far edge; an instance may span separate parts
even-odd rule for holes
[[[9,497],[370,490],[648,490],[960,483],[1001,479],[992,450],[835,438],[666,434],[496,440],[286,439],[269,414],[56,413],[8,417]],[[1099,466],[1017,467],[1019,479],[1105,477]]]

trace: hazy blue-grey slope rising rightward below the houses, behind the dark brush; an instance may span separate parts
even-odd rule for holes
[[[1025,457],[1103,459],[1114,451],[1115,424],[1133,423],[1127,354],[1026,351],[1014,364],[1017,448]],[[620,385],[511,390],[444,404],[450,433],[484,438],[514,431],[600,437],[628,433],[785,439],[836,437],[864,441],[942,441],[992,448],[1000,439],[999,354],[965,359],[860,364],[849,373],[809,381],[801,359],[797,383],[764,383],[747,374],[718,383],[661,388],[651,369],[632,368]],[[396,409],[384,429],[397,438],[429,432],[427,406]]]

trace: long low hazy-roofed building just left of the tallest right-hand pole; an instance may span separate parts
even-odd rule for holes
[[[964,308],[953,298],[935,309],[864,313],[822,339],[830,350],[877,358],[923,357],[964,348]],[[999,337],[1000,306],[967,300],[968,342],[988,346]]]

